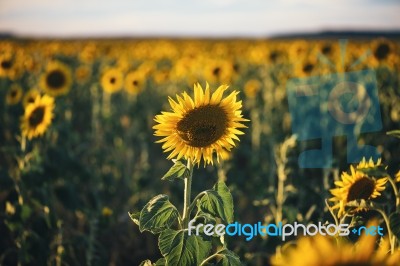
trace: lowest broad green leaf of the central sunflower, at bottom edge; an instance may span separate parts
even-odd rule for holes
[[[211,241],[201,236],[188,235],[184,230],[166,229],[158,238],[158,247],[165,265],[199,265],[211,250]]]

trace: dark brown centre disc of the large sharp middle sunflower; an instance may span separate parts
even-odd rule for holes
[[[189,111],[177,124],[179,136],[192,147],[207,147],[225,134],[228,117],[218,105]]]

